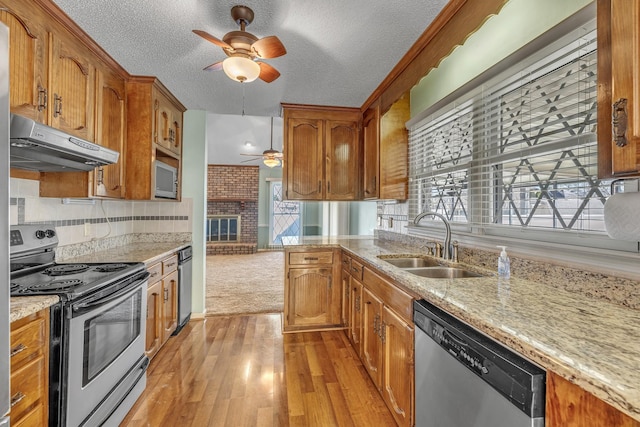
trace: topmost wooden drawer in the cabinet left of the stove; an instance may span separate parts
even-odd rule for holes
[[[11,369],[43,353],[47,342],[46,320],[42,315],[20,319],[11,325]]]

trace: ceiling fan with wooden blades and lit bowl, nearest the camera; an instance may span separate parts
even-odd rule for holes
[[[224,70],[232,80],[240,83],[251,82],[257,78],[271,83],[280,72],[260,59],[277,58],[287,53],[284,45],[276,36],[268,36],[258,39],[253,34],[245,31],[247,25],[253,22],[253,10],[247,6],[234,6],[231,8],[231,17],[240,25],[240,31],[231,31],[222,37],[222,40],[212,36],[206,31],[193,30],[203,39],[220,46],[228,56],[205,67],[205,71]]]

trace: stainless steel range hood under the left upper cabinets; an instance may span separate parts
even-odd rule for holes
[[[11,114],[11,167],[39,172],[90,171],[118,161],[120,153]]]

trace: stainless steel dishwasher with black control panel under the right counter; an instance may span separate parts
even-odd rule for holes
[[[416,427],[542,427],[543,369],[415,301]]]

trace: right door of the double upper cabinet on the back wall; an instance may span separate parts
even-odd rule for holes
[[[328,120],[326,150],[326,198],[355,200],[359,188],[358,124]]]

